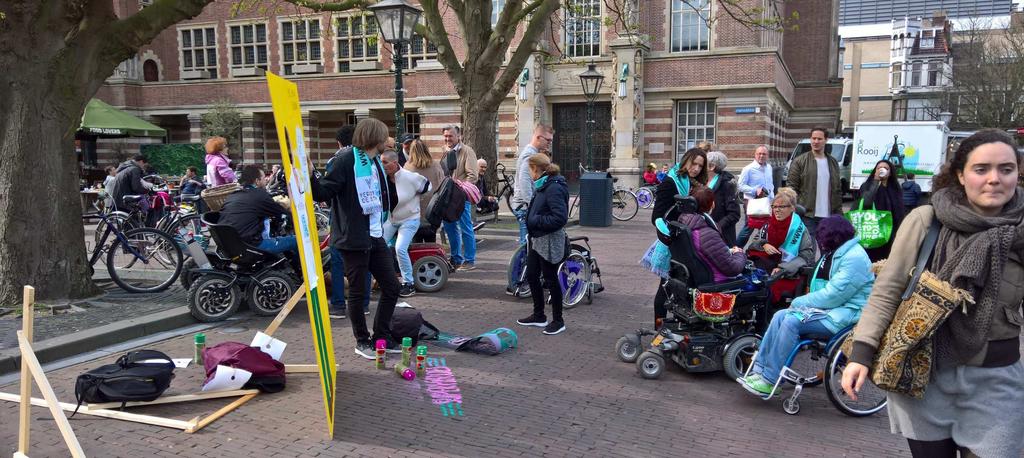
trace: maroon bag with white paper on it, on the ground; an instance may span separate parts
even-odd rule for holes
[[[203,348],[203,367],[206,382],[213,380],[217,366],[227,366],[252,372],[245,388],[256,388],[263,392],[278,392],[285,389],[285,365],[264,353],[259,347],[239,342],[224,342]]]

